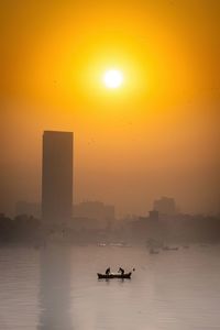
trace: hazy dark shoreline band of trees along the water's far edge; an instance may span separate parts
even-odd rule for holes
[[[47,242],[98,243],[219,243],[220,218],[202,215],[162,217],[150,213],[148,217],[122,219],[118,228],[98,230],[96,219],[74,219],[73,228],[53,228],[47,230],[33,217],[18,216],[10,219],[0,213],[0,246],[8,243],[21,243],[32,246],[45,246]]]

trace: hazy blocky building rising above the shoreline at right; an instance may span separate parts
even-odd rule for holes
[[[174,216],[177,211],[175,199],[170,197],[161,197],[156,199],[153,209],[163,216]]]

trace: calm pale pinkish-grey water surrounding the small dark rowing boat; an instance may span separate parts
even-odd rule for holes
[[[107,266],[131,280],[98,280]],[[220,329],[220,246],[0,249],[1,330]]]

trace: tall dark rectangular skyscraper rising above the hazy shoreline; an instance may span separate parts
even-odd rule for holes
[[[42,217],[45,224],[67,224],[73,209],[73,133],[43,135]]]

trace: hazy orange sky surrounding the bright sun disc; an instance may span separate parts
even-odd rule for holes
[[[76,202],[144,215],[166,195],[219,211],[220,1],[0,6],[0,211],[41,200],[44,130],[75,133]]]

